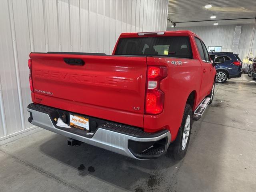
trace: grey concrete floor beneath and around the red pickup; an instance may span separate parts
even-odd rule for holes
[[[256,191],[256,82],[217,84],[186,157],[138,161],[36,128],[0,141],[0,191]]]

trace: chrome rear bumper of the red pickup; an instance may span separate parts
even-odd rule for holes
[[[160,156],[166,152],[171,140],[171,134],[169,131],[166,131],[161,135],[158,134],[156,137],[142,138],[142,137],[131,136],[128,134],[122,134],[120,132],[115,132],[114,130],[104,129],[102,126],[99,126],[96,132],[94,133],[94,135],[91,138],[89,138],[86,136],[74,134],[72,132],[68,132],[66,130],[57,128],[56,126],[54,126],[54,123],[52,122],[50,115],[45,112],[40,112],[38,110],[33,110],[31,108],[28,108],[28,111],[30,112],[29,121],[33,125],[36,125],[46,130],[66,136],[68,138],[79,140],[81,142],[91,144],[93,146],[97,146],[100,148],[104,148],[106,150],[110,150],[112,152],[122,154],[124,156],[128,156],[134,159],[142,160],[142,159],[149,159],[149,158],[145,158],[143,155],[140,155],[140,154],[138,155],[134,154],[134,150],[131,150],[131,148],[128,146],[128,143],[130,141],[132,142],[134,141],[133,143],[135,144],[137,144],[137,142],[138,144],[140,144],[140,142],[154,143],[164,139],[166,140],[166,142],[163,144],[163,149],[162,149],[164,151],[162,151],[163,153],[161,152],[161,154],[159,154]],[[136,145],[135,145],[135,148],[136,148]]]

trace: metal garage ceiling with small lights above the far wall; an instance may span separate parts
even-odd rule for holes
[[[211,4],[211,8],[205,5]],[[216,16],[210,19],[210,16]],[[169,0],[168,19],[176,22],[176,27],[209,26],[214,22],[219,25],[254,24],[256,17],[256,0]],[[252,18],[239,20],[222,20],[234,18]],[[190,22],[202,21],[204,22]],[[179,23],[185,22],[185,23]],[[167,27],[172,25],[168,22]]]

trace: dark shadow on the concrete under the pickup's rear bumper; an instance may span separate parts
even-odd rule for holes
[[[90,174],[126,190],[135,189],[139,192],[145,188],[160,186],[162,177],[157,172],[179,163],[166,156],[156,160],[134,160],[89,144],[69,147],[66,139],[56,135],[42,143],[40,150],[58,162],[78,170],[80,177]],[[138,184],[139,180],[146,182]]]

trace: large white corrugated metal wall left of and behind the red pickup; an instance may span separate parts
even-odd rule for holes
[[[121,32],[166,30],[168,0],[1,0],[0,140],[31,127],[30,52],[111,54]]]

